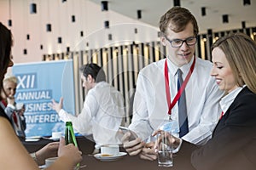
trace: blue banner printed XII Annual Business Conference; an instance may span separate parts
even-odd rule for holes
[[[51,100],[59,102],[62,96],[64,109],[74,114],[73,60],[17,64],[12,71],[18,79],[15,102],[26,106],[26,137],[64,133],[65,123],[52,110]]]

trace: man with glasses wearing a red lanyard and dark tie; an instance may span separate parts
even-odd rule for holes
[[[159,128],[172,131],[178,144],[183,140],[205,144],[221,114],[218,101],[223,95],[210,77],[212,63],[195,56],[198,26],[194,15],[186,8],[173,7],[160,18],[160,32],[166,59],[146,66],[137,78],[129,129],[139,138],[129,141],[130,133],[122,138],[131,156],[140,154],[148,160],[157,158],[154,140],[147,141]]]

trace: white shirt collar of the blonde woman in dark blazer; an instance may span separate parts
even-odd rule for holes
[[[224,98],[220,100],[219,105],[224,113],[228,111],[230,105],[233,103],[233,101],[236,99],[236,96],[241,92],[242,88],[244,87],[246,87],[246,85],[236,88],[235,90],[230,92],[230,94],[227,94],[226,96],[224,96]]]

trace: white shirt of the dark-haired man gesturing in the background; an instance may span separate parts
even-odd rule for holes
[[[96,144],[120,144],[117,131],[125,116],[124,99],[118,90],[107,82],[97,82],[84,100],[79,116],[59,112],[61,121],[73,122],[79,133],[93,134]]]

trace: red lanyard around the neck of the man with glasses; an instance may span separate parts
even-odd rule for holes
[[[172,114],[172,108],[177,103],[177,100],[180,98],[181,94],[183,94],[183,90],[186,88],[187,83],[189,82],[189,78],[191,77],[192,72],[194,71],[195,67],[195,57],[192,65],[190,66],[190,70],[188,72],[188,75],[186,76],[182,86],[177,91],[177,94],[175,95],[173,101],[171,101],[171,92],[170,92],[170,86],[169,86],[169,77],[168,77],[168,65],[167,65],[167,59],[165,63],[165,82],[166,82],[166,99],[168,104],[168,115],[171,116]]]

